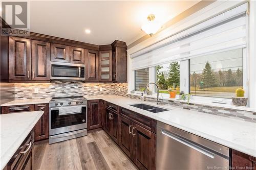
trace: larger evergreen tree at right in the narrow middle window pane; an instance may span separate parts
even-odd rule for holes
[[[168,79],[167,79],[167,87],[180,86],[180,64],[179,62],[172,62],[168,66]]]

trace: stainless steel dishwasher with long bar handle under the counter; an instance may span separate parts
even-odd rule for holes
[[[229,149],[157,122],[157,169],[228,169]]]

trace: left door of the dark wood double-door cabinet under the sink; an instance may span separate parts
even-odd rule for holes
[[[132,159],[133,156],[133,136],[132,136],[133,122],[120,116],[119,119],[119,147],[123,152]]]

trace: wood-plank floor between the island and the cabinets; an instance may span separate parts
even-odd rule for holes
[[[33,169],[138,169],[103,130],[33,148]]]

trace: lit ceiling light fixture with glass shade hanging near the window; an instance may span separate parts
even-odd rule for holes
[[[143,30],[146,34],[152,36],[161,27],[161,24],[155,20],[155,15],[150,14],[147,16],[147,23],[141,27],[141,30]]]

